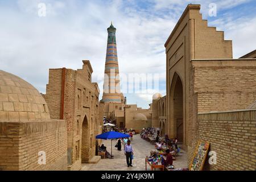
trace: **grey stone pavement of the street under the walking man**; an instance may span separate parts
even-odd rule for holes
[[[118,151],[115,148],[116,140],[112,143],[112,154],[114,159],[101,159],[97,164],[82,164],[82,171],[144,171],[145,170],[145,158],[150,156],[150,151],[155,149],[154,144],[150,144],[146,140],[141,138],[141,135],[134,135],[131,145],[134,150],[134,160],[133,167],[127,167],[126,157],[122,151]],[[102,143],[107,147],[107,150],[111,152],[111,140],[102,140]],[[176,168],[187,167],[187,153],[181,150],[179,156],[174,160],[174,166]],[[151,170],[150,166],[147,164],[147,170]],[[156,169],[158,170],[158,169]]]

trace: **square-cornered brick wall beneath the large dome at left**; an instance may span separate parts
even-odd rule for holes
[[[67,170],[67,129],[62,120],[0,123],[0,169]],[[38,164],[38,152],[46,164]]]

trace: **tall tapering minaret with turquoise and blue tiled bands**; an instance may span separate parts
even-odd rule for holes
[[[104,92],[102,101],[122,102],[122,94],[120,93],[119,69],[117,60],[117,42],[115,39],[115,31],[117,30],[112,22],[108,30],[108,44],[106,49],[105,75],[104,75]]]

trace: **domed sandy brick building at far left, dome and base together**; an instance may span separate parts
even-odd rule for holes
[[[65,121],[50,117],[34,86],[0,71],[0,171],[67,170],[67,163]]]

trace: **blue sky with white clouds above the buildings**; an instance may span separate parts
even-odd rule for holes
[[[255,0],[0,0],[0,69],[46,93],[49,68],[80,69],[90,60],[92,81],[102,91],[106,28],[113,21],[119,72],[158,78],[155,88],[125,93],[127,104],[148,108],[154,93],[166,94],[164,43],[189,3],[200,4],[208,26],[233,40],[234,58],[256,48]]]

